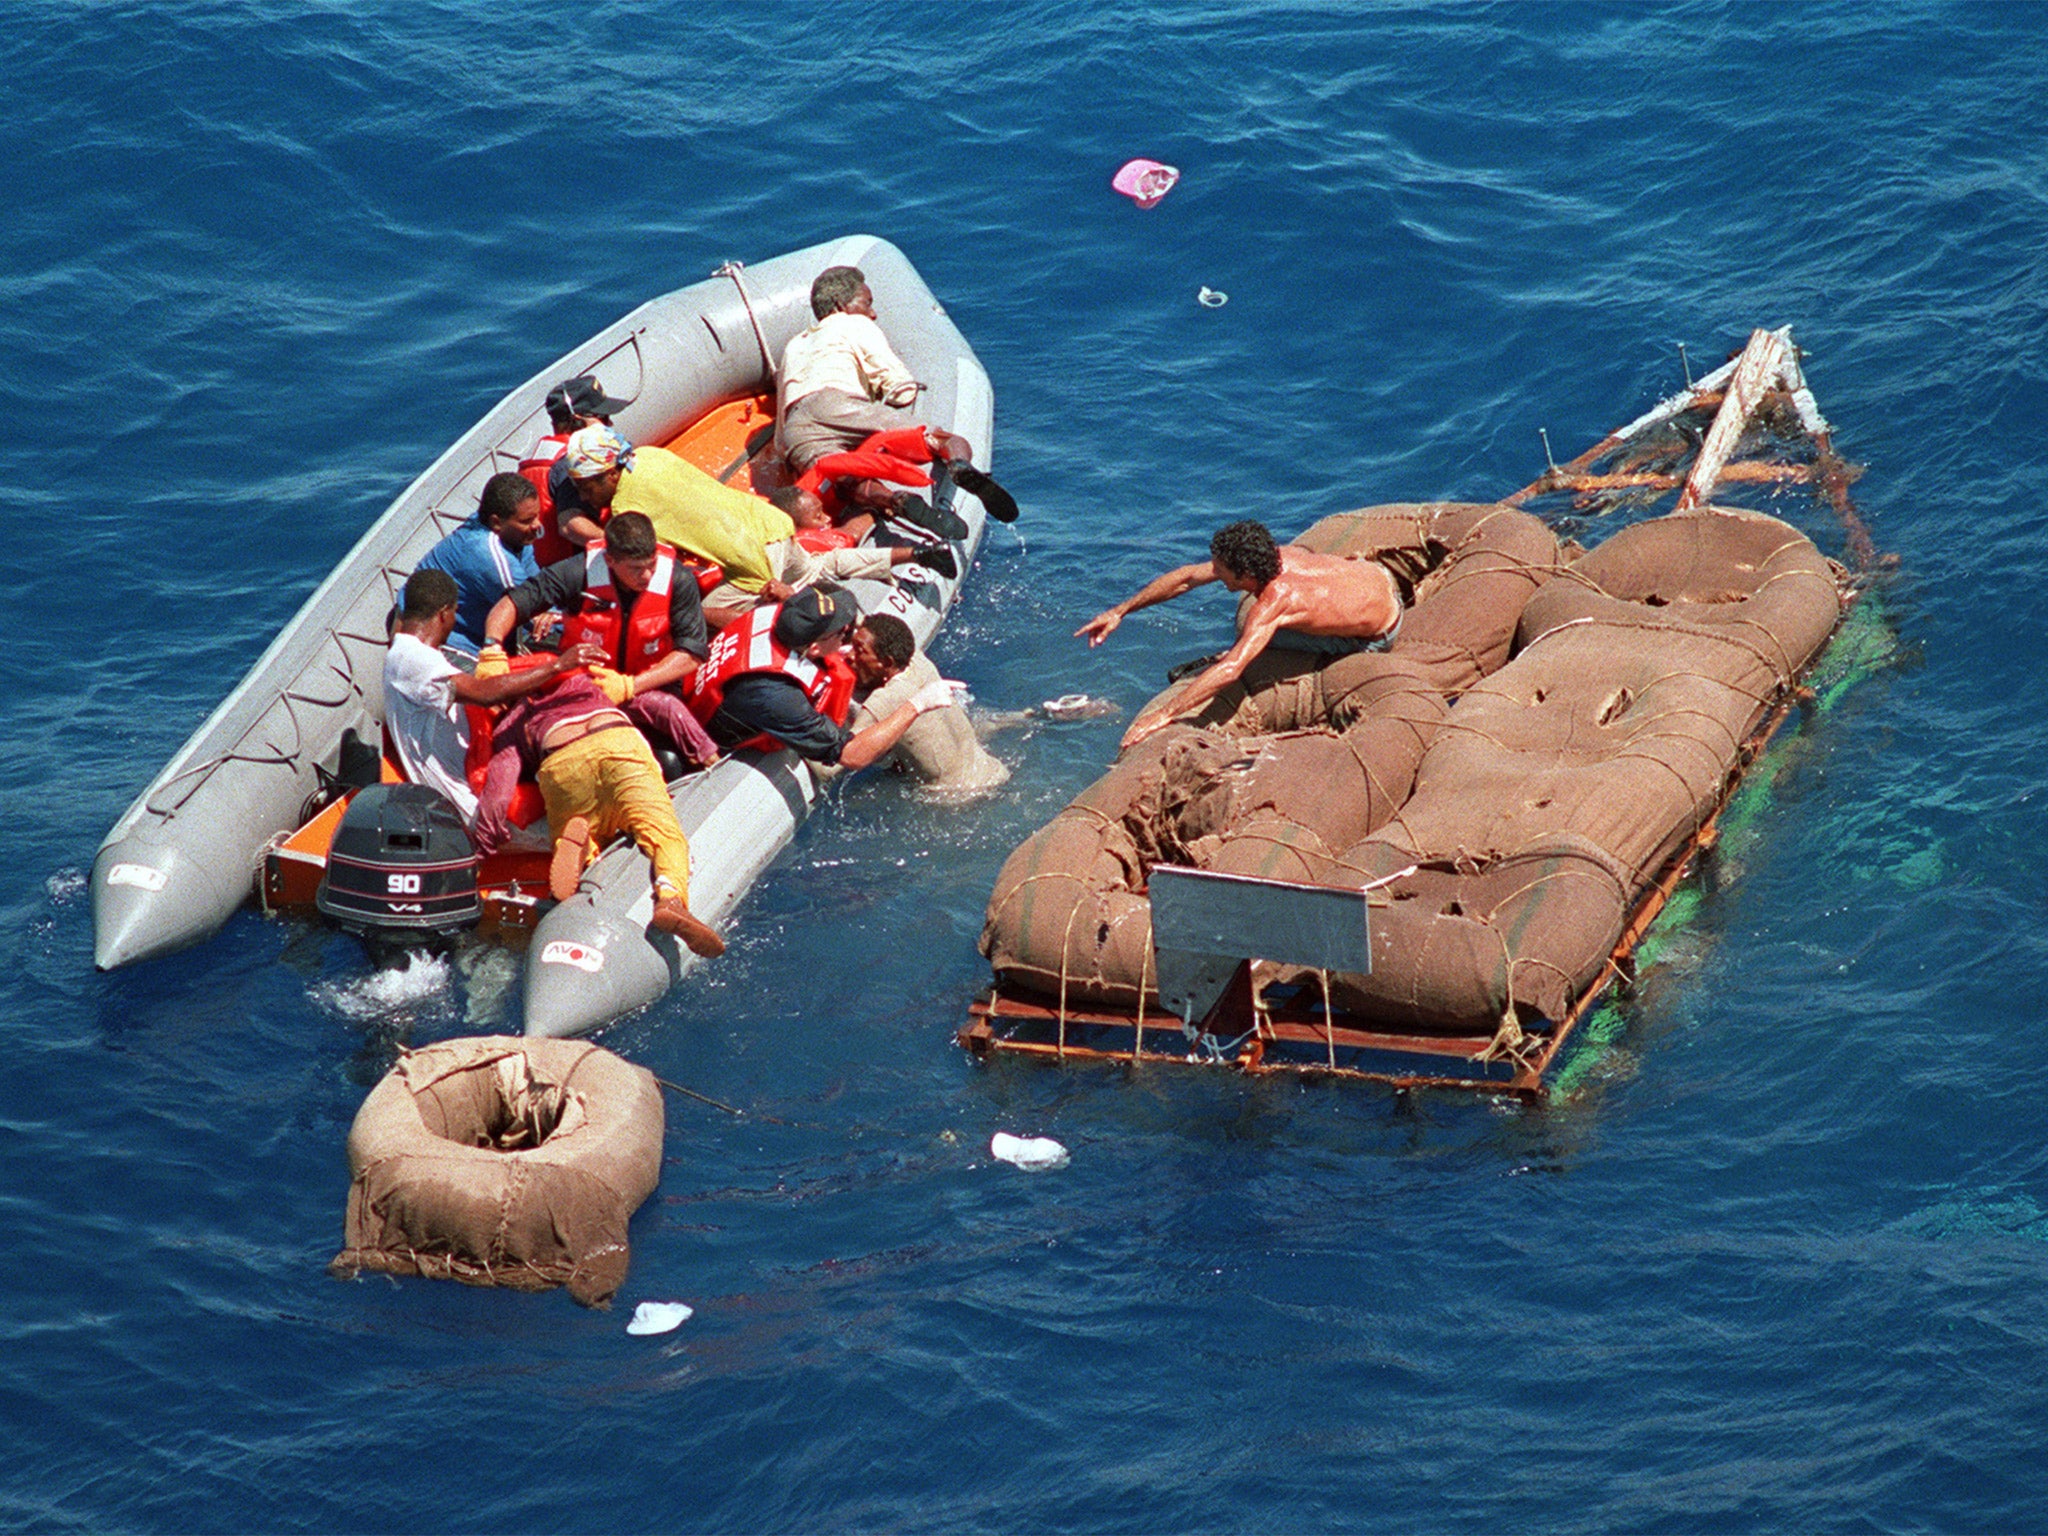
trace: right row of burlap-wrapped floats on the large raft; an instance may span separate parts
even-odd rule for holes
[[[1337,1004],[1509,1040],[1563,1018],[1833,633],[1839,575],[1776,518],[1698,510],[1546,584],[1516,659],[1458,698],[1407,803],[1337,860],[1343,885],[1419,866],[1372,893],[1372,975],[1337,977]]]

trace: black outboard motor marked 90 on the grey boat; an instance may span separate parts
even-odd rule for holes
[[[313,901],[371,952],[446,944],[477,926],[477,850],[426,784],[371,784],[334,829]]]

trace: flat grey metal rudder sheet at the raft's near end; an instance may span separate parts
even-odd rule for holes
[[[1243,961],[1372,971],[1364,891],[1159,864],[1149,881],[1159,1001],[1194,1024]]]

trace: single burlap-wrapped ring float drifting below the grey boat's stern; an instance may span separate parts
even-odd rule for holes
[[[662,1090],[582,1040],[475,1036],[408,1053],[348,1130],[330,1270],[567,1286],[602,1307],[627,1221],[662,1180]]]

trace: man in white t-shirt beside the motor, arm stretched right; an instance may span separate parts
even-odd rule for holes
[[[446,571],[424,567],[406,582],[397,631],[385,651],[385,729],[406,776],[440,791],[467,825],[477,819],[477,793],[463,772],[469,756],[463,705],[506,705],[539,692],[569,668],[602,664],[604,651],[571,645],[547,666],[473,678],[440,653],[455,631],[455,578]]]

